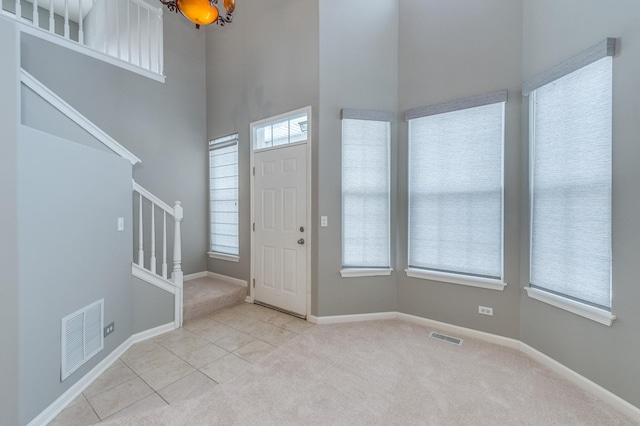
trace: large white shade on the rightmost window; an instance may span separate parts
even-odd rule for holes
[[[612,58],[530,102],[531,285],[610,309]]]

